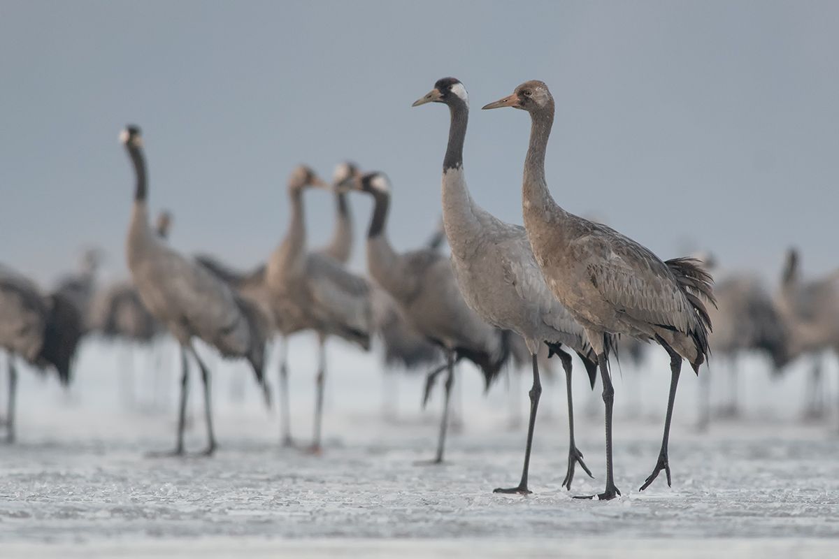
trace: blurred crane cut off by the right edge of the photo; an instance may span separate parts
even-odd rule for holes
[[[781,286],[775,298],[789,325],[789,359],[813,355],[805,417],[824,415],[821,354],[839,353],[839,272],[803,280],[797,250],[787,252]]]

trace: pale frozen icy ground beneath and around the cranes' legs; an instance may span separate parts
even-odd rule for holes
[[[300,440],[310,432],[313,349],[301,338],[291,350]],[[797,421],[805,363],[773,382],[760,360],[746,360],[744,417],[717,422],[704,434],[693,427],[699,383],[685,373],[670,443],[673,489],[662,475],[644,493],[637,489],[658,453],[666,360],[656,354],[643,371],[616,367],[616,481],[623,498],[599,503],[571,499],[601,490],[604,474],[602,402],[586,390],[583,374],[575,383],[577,444],[597,479],[578,471],[571,492],[560,487],[565,394],[561,384],[546,383],[531,463],[534,494],[523,498],[492,494],[518,482],[524,448],[524,422],[508,427],[503,380],[485,398],[477,373],[463,367],[463,432],[450,437],[448,463],[416,466],[433,451],[439,398],[420,411],[421,379],[402,377],[397,417],[386,422],[378,360],[335,344],[330,361],[320,457],[278,448],[277,413],[260,405],[244,365],[216,367],[221,448],[210,459],[144,457],[169,447],[175,427],[175,375],[159,379],[157,404],[164,409],[150,409],[148,355],[138,357],[133,404],[120,384],[125,361],[111,346],[86,344],[70,395],[53,379],[23,370],[19,442],[0,446],[0,556],[839,553],[837,419]],[[175,363],[174,348],[164,363]],[[835,365],[826,373],[832,394]],[[727,387],[722,365],[714,380],[718,402]],[[528,388],[527,376],[513,382],[520,414]],[[195,450],[204,444],[198,394],[190,401],[188,437]]]

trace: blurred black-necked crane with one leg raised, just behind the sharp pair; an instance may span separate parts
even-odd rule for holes
[[[446,354],[446,365],[429,375],[424,396],[427,401],[435,376],[445,369],[440,436],[437,453],[430,461],[442,463],[456,360],[466,358],[475,363],[488,388],[508,358],[508,333],[487,324],[466,305],[451,264],[439,251],[425,248],[400,254],[393,250],[385,233],[391,186],[383,173],[365,173],[352,182],[352,188],[374,200],[367,230],[370,277],[399,303],[409,323]]]

